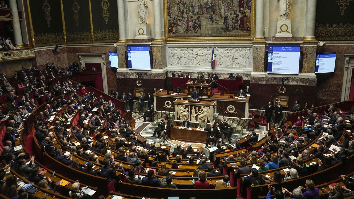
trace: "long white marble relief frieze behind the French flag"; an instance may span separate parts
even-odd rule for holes
[[[215,63],[219,67],[251,67],[251,49],[249,48],[214,48]],[[170,66],[210,66],[211,49],[170,48]]]

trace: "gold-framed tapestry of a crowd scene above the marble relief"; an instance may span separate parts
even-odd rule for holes
[[[253,0],[164,0],[165,37],[251,40]]]

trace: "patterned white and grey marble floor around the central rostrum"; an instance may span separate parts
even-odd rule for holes
[[[194,142],[185,142],[185,141],[179,141],[179,140],[166,140],[163,142],[162,138],[161,140],[158,139],[158,137],[151,137],[154,133],[154,130],[157,126],[154,126],[153,123],[151,122],[144,122],[144,114],[143,113],[138,113],[137,111],[133,111],[133,118],[135,119],[135,129],[141,136],[147,139],[147,143],[150,142],[156,142],[156,143],[163,143],[167,146],[171,146],[170,152],[173,151],[174,148],[176,148],[177,144],[181,144],[182,147],[188,147],[189,144],[192,145],[194,148],[198,147],[205,147],[204,143],[194,143]],[[262,133],[265,128],[264,126],[261,126],[261,129],[255,128],[255,131],[257,133]],[[157,135],[156,135],[157,136]],[[237,140],[240,140],[241,138],[245,137],[244,135],[237,135],[237,134],[232,134],[231,138],[233,139],[233,144],[236,143]],[[227,143],[227,139],[225,139],[225,143]],[[206,154],[207,157],[209,157],[209,150],[204,148],[204,153]]]

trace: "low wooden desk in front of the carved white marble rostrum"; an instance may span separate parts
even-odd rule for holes
[[[179,126],[175,126],[170,129],[170,136],[172,140],[206,143],[207,131],[196,130],[196,128],[179,129]]]

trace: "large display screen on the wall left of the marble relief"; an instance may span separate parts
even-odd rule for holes
[[[151,70],[150,46],[127,46],[128,68]]]

